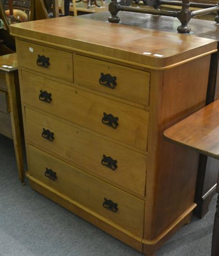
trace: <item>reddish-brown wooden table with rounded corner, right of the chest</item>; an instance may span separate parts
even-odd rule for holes
[[[167,140],[219,160],[219,100],[173,125],[164,133]],[[218,176],[219,184],[219,176]],[[219,186],[217,187],[219,192]],[[216,205],[211,256],[219,255],[219,194]]]

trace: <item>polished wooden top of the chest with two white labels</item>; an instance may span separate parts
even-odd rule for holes
[[[216,41],[207,38],[70,16],[13,24],[11,34],[153,69],[169,68],[216,51]]]

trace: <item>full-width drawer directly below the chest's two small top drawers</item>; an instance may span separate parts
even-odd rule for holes
[[[148,111],[22,72],[26,104],[146,152]]]

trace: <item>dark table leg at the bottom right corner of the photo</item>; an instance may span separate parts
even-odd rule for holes
[[[211,256],[218,256],[218,255],[219,255],[219,194],[218,194],[218,200],[216,202],[216,213],[215,213],[215,221],[214,221],[212,244],[211,244]]]

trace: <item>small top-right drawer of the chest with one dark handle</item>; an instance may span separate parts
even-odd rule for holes
[[[149,72],[76,54],[74,73],[75,83],[81,86],[149,105]]]

